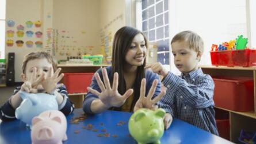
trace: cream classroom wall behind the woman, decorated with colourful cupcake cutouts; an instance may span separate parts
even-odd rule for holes
[[[125,22],[125,0],[8,0],[6,1],[6,21],[16,22],[14,27],[7,30],[17,31],[16,26],[22,24],[24,33],[27,30],[41,31],[43,36],[36,38],[18,38],[14,34],[14,45],[5,47],[7,53],[16,53],[15,77],[21,82],[20,74],[22,59],[31,51],[47,50],[57,60],[67,57],[77,57],[82,54],[104,54],[111,56],[114,33]],[[41,27],[26,28],[26,21],[41,21]],[[22,40],[24,45],[17,47],[15,41]],[[43,46],[37,48],[34,44],[29,48],[26,41],[41,41]],[[105,52],[106,51],[106,52]],[[105,60],[104,60],[105,62]]]

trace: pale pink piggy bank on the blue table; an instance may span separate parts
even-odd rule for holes
[[[47,110],[32,119],[32,144],[58,143],[67,140],[67,119],[59,110]]]

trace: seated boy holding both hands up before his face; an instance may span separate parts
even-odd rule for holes
[[[22,102],[19,91],[54,94],[59,110],[65,115],[71,114],[74,105],[68,99],[66,87],[63,83],[58,83],[64,76],[64,74],[59,75],[60,70],[57,69],[57,63],[52,55],[47,52],[37,51],[25,55],[21,74],[24,83],[16,87],[14,94],[0,107],[0,119],[2,121],[16,119],[15,110]]]

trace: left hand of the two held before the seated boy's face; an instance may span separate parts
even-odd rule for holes
[[[27,93],[37,93],[36,87],[44,79],[44,73],[37,78],[36,67],[33,67],[32,70],[32,77],[27,79],[27,81],[22,84],[21,91],[26,91]]]

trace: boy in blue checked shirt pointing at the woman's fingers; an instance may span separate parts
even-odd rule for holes
[[[219,135],[213,109],[215,85],[211,76],[198,67],[204,50],[201,37],[192,31],[182,31],[174,36],[171,47],[180,76],[165,70],[161,63],[145,67],[161,74],[162,83],[167,87],[166,95],[158,103],[166,110],[165,128],[170,127],[174,117]]]

